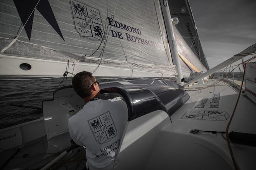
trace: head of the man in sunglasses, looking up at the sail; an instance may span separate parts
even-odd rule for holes
[[[99,85],[97,79],[92,76],[92,73],[82,71],[76,74],[72,79],[74,91],[83,99],[93,99],[99,93]]]

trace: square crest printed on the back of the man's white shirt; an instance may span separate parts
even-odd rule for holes
[[[116,127],[109,112],[88,120],[88,123],[100,144],[116,136]]]

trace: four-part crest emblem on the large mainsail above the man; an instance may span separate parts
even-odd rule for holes
[[[81,37],[102,40],[104,29],[100,11],[75,0],[70,0],[74,27]]]

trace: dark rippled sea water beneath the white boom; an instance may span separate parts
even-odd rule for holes
[[[242,75],[243,73],[236,72],[235,80],[241,81]],[[52,99],[54,91],[65,83],[71,85],[72,79],[67,77],[64,80],[63,78],[19,80],[33,78],[42,77],[0,77],[0,79],[15,79],[0,80],[0,129],[42,117],[43,100]]]

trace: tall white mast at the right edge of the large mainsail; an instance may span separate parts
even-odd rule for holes
[[[162,14],[163,14],[163,18],[164,18],[164,24],[165,24],[166,31],[167,31],[167,37],[168,37],[170,51],[171,51],[171,58],[173,60],[173,64],[176,65],[177,72],[178,72],[177,82],[180,84],[180,83],[182,83],[181,80],[183,79],[183,74],[182,74],[182,68],[180,65],[180,60],[178,57],[178,48],[177,48],[176,41],[174,38],[173,25],[171,22],[171,14],[170,14],[170,10],[169,10],[168,1],[160,0],[160,4],[161,4]]]

